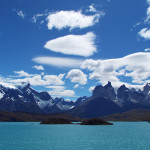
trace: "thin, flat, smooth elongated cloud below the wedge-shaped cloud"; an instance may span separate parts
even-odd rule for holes
[[[83,62],[82,59],[64,57],[35,57],[32,60],[39,64],[65,68],[80,67]]]

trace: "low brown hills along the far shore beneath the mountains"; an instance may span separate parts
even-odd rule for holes
[[[50,118],[69,119],[71,122],[82,122],[86,118],[78,118],[69,114],[29,114],[24,112],[5,112],[0,111],[0,122],[41,122]],[[134,109],[124,113],[117,113],[99,117],[105,121],[121,122],[150,122],[150,110]]]

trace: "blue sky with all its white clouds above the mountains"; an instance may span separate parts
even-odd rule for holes
[[[76,100],[150,83],[150,0],[0,0],[0,84]]]

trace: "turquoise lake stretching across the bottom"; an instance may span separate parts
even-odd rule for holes
[[[81,126],[1,122],[0,150],[150,150],[150,123]]]

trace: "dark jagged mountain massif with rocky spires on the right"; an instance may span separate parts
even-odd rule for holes
[[[144,86],[142,91],[129,89],[122,85],[118,88],[117,93],[115,93],[111,82],[108,82],[105,86],[96,86],[92,97],[73,108],[71,114],[91,118],[135,108],[150,109],[150,84]]]

